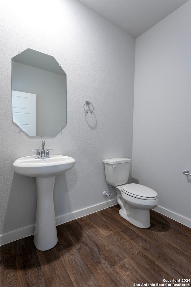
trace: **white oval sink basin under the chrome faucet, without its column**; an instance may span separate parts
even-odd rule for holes
[[[24,156],[13,163],[15,172],[31,177],[50,177],[70,170],[75,159],[65,155],[50,155],[50,158],[38,158],[35,155]]]

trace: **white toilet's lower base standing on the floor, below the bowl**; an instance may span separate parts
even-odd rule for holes
[[[122,209],[119,210],[121,217],[126,219],[128,222],[139,228],[150,227],[150,211],[148,209],[135,209],[130,207],[129,215]]]

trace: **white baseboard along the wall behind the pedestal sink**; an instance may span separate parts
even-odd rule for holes
[[[80,209],[77,211],[73,211],[71,213],[67,213],[61,216],[56,217],[56,225],[61,225],[65,222],[69,222],[71,220],[80,218],[82,216],[86,216],[88,214],[94,213],[96,211],[105,209],[107,207],[113,206],[117,204],[116,199],[111,199],[108,201],[104,201],[102,203],[86,207],[84,209]],[[7,244],[9,242],[13,242],[15,240],[30,236],[34,234],[35,225],[27,226],[25,228],[17,229],[11,232],[7,232],[4,234],[0,234],[0,245]]]

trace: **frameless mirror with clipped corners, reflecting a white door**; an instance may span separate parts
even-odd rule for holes
[[[55,136],[66,125],[66,73],[56,59],[27,49],[11,59],[13,122],[29,136]]]

